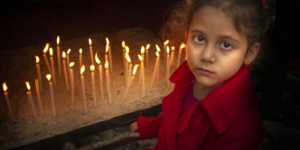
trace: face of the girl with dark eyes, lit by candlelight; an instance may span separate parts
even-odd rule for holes
[[[220,85],[246,61],[246,36],[235,30],[221,10],[211,6],[194,12],[186,44],[188,66],[202,86]]]

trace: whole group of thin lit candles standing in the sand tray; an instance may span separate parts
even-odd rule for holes
[[[108,102],[111,104],[111,93],[110,93],[110,78],[109,78],[109,71],[112,72],[112,57],[111,57],[111,50],[110,50],[110,44],[109,40],[106,37],[106,47],[105,47],[105,77],[106,77],[106,88],[107,88],[107,97],[108,97]],[[96,106],[96,90],[95,90],[95,79],[94,79],[94,60],[98,64],[98,70],[99,70],[99,84],[100,84],[100,95],[101,99],[104,99],[103,96],[103,75],[102,75],[102,65],[101,61],[99,60],[97,56],[97,52],[95,55],[93,54],[92,50],[92,45],[91,45],[91,39],[88,39],[89,41],[89,51],[90,51],[90,58],[91,58],[91,65],[90,65],[90,70],[91,70],[91,83],[92,83],[92,97],[93,97],[93,105]],[[58,65],[58,74],[61,77],[61,59],[60,59],[60,47],[59,47],[59,36],[57,36],[56,39],[57,46],[57,65]],[[171,47],[171,54],[169,55],[170,48],[167,45],[168,40],[163,42],[163,51],[164,51],[164,59],[166,60],[166,75],[165,79],[169,78],[170,75],[170,66],[174,63],[174,47]],[[140,60],[139,64],[135,64],[133,66],[132,70],[132,63],[131,59],[129,57],[129,47],[125,45],[125,42],[122,41],[122,52],[123,52],[123,65],[124,65],[124,70],[125,70],[125,85],[126,89],[123,93],[122,96],[122,103],[125,101],[125,97],[127,96],[129,92],[129,87],[132,84],[132,81],[134,79],[137,67],[140,66],[140,74],[139,74],[139,84],[142,85],[142,97],[145,97],[145,75],[144,75],[144,59],[146,60],[146,66],[149,65],[149,59],[148,59],[148,49],[149,49],[150,44],[147,44],[146,47],[141,46],[140,54],[138,54],[138,58]],[[179,66],[180,62],[180,56],[181,56],[181,51],[184,48],[184,44],[181,44],[179,47],[179,52],[178,52],[178,57],[177,57],[177,65],[176,67]],[[156,59],[155,59],[155,65],[154,65],[154,70],[151,78],[151,84],[150,88],[153,85],[154,80],[158,79],[159,76],[159,57],[160,57],[160,48],[157,44],[155,44],[156,47]],[[48,59],[46,57],[46,52],[49,50],[49,55],[50,55],[50,64],[48,62]],[[74,103],[74,78],[73,78],[73,65],[74,62],[69,62],[69,52],[71,49],[68,49],[67,52],[65,53],[64,51],[62,52],[62,65],[63,65],[63,74],[64,74],[64,79],[65,79],[65,87],[66,91],[69,92],[69,83],[68,80],[70,80],[70,94],[71,94],[71,103]],[[144,58],[144,53],[146,53],[146,56]],[[53,86],[56,86],[56,77],[55,77],[55,69],[54,69],[54,60],[53,60],[53,49],[49,47],[49,43],[46,43],[44,49],[43,49],[43,58],[45,60],[47,69],[49,71],[49,74],[46,75],[46,78],[48,79],[49,83],[49,90],[50,90],[50,101],[51,101],[51,109],[52,109],[52,115],[55,116],[55,102],[54,102],[54,93],[53,93]],[[37,97],[37,102],[38,102],[38,107],[39,111],[41,114],[43,114],[43,108],[42,108],[42,102],[40,98],[40,93],[43,92],[42,89],[42,82],[41,82],[41,73],[40,73],[40,66],[39,66],[39,57],[35,55],[35,60],[36,60],[36,72],[37,72],[37,78],[35,79],[35,89],[36,89],[36,97]],[[83,109],[84,112],[87,112],[87,106],[86,106],[86,97],[85,97],[85,87],[84,87],[84,76],[83,72],[85,70],[84,64],[82,64],[82,49],[79,49],[79,66],[80,66],[80,81],[81,81],[81,90],[82,90],[82,102],[83,102]],[[109,67],[108,67],[109,66]],[[131,74],[132,71],[132,74]],[[27,86],[27,98],[28,102],[31,106],[32,113],[34,117],[37,117],[35,105],[32,99],[32,94],[30,91],[30,84],[28,81],[25,81],[25,84]],[[169,86],[169,81],[167,81],[167,86]],[[10,119],[13,119],[13,114],[12,114],[12,109],[10,106],[10,101],[7,93],[7,86],[6,82],[3,82],[3,90],[4,90],[4,97],[8,109],[8,114]]]

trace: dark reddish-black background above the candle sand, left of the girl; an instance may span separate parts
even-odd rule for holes
[[[0,49],[63,40],[134,26],[157,34],[178,0],[10,0],[0,8]]]

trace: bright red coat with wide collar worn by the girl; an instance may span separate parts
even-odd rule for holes
[[[247,66],[242,65],[180,117],[182,101],[194,80],[186,61],[170,80],[175,87],[162,99],[162,113],[154,118],[137,118],[142,139],[157,137],[154,149],[258,149],[263,125]]]

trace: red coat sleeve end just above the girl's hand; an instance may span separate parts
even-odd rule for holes
[[[141,139],[157,138],[160,124],[162,121],[162,113],[154,118],[139,116],[137,118],[137,127]]]

